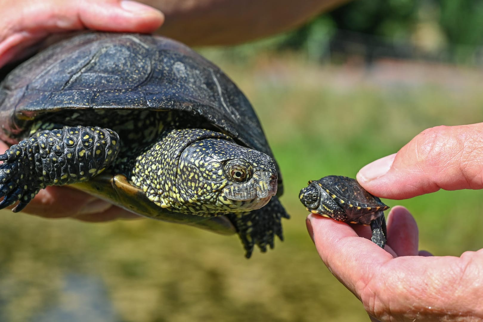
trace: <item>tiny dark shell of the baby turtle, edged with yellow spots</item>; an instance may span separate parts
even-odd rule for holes
[[[389,209],[379,197],[369,194],[353,178],[327,176],[317,183],[346,211],[365,214]]]

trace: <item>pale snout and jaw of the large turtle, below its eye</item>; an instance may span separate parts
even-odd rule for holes
[[[240,210],[256,210],[265,206],[277,194],[277,174],[257,171],[248,182],[234,183],[223,189],[223,195]]]

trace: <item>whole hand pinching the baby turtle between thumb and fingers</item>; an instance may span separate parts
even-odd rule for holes
[[[483,188],[483,123],[429,128],[397,154],[357,174],[370,193],[403,199],[439,189]],[[388,216],[387,246],[369,240],[368,227],[310,215],[309,232],[332,273],[383,321],[483,319],[483,250],[460,257],[418,252],[411,214],[395,207]],[[419,255],[419,256],[418,256]]]

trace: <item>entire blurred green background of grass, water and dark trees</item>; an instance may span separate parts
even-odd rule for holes
[[[482,8],[361,0],[284,35],[201,50],[245,92],[264,126],[292,215],[285,241],[246,260],[237,237],[192,227],[4,210],[0,321],[368,321],[315,252],[298,191],[328,174],[354,177],[428,127],[481,122],[482,27],[474,22]],[[422,249],[460,255],[483,246],[482,195],[440,191],[384,202],[412,211]]]

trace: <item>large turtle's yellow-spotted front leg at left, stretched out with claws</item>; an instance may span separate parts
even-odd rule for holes
[[[0,155],[0,209],[14,212],[48,185],[91,179],[109,167],[119,153],[119,136],[108,128],[64,127],[44,130]]]

